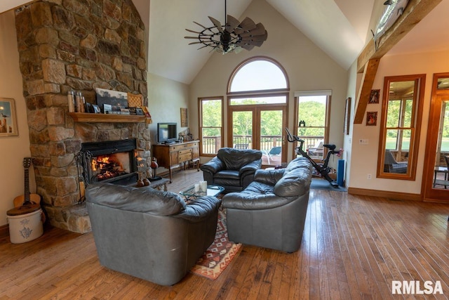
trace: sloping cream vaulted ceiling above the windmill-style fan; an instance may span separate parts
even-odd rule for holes
[[[369,32],[384,9],[384,0],[227,0],[227,13],[243,20],[252,1],[267,1],[345,69],[371,39]],[[27,2],[1,0],[0,13]],[[149,27],[149,72],[189,84],[213,53],[189,46],[185,28],[196,29],[193,21],[209,25],[209,15],[224,22],[225,0],[133,2]],[[449,27],[448,11],[449,0],[441,1],[388,54],[449,51],[449,31],[445,30]],[[260,22],[257,16],[252,18]],[[269,39],[269,28],[267,31]]]

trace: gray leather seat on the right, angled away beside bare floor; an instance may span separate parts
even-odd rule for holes
[[[311,164],[304,157],[286,169],[256,171],[245,190],[222,199],[229,240],[283,252],[300,249],[310,183]]]

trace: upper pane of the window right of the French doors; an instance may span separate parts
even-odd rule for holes
[[[303,126],[326,126],[326,96],[301,96],[298,104],[298,120]]]

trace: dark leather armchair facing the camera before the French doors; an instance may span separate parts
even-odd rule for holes
[[[260,150],[221,148],[217,156],[203,164],[200,169],[208,185],[220,185],[225,188],[226,193],[229,193],[246,188],[260,167],[262,167]]]

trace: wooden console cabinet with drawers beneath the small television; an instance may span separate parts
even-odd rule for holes
[[[168,169],[170,173],[170,183],[172,170],[181,167],[185,169],[185,164],[189,162],[199,162],[199,141],[189,141],[185,143],[157,144],[152,146],[153,157],[156,157],[159,167]],[[199,164],[196,164],[199,171]]]

